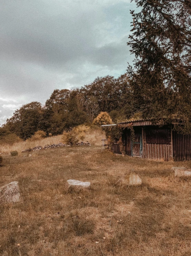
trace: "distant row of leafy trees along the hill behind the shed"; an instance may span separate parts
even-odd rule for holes
[[[80,124],[92,124],[100,112],[108,112],[113,122],[138,112],[127,74],[118,78],[98,77],[81,88],[54,90],[44,106],[37,101],[23,105],[0,129],[0,139],[14,133],[30,138],[38,130],[58,135]]]

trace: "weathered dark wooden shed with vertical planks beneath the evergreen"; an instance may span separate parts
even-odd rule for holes
[[[153,125],[153,122],[138,120],[119,123],[123,127],[123,152],[132,157],[164,159],[165,161],[191,160],[191,134],[182,135],[173,131],[173,125]],[[131,138],[130,126],[134,129]],[[121,154],[120,145],[113,143],[114,153]]]

